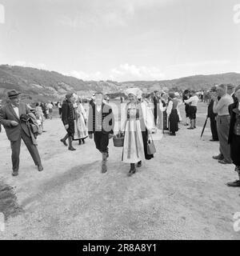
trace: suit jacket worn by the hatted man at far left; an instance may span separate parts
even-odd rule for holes
[[[29,114],[30,110],[25,103],[20,102],[19,104],[19,117],[22,114]],[[12,126],[10,121],[18,122],[18,126]],[[14,111],[13,106],[8,103],[6,106],[2,106],[0,110],[0,123],[6,130],[6,136],[11,142],[15,142],[21,136],[21,130],[24,130],[26,135],[30,137],[30,131],[26,126],[26,122],[20,121],[17,114]],[[21,129],[22,128],[22,129]]]

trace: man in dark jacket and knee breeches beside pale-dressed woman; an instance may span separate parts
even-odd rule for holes
[[[74,140],[74,120],[75,110],[73,105],[73,94],[66,94],[66,99],[62,103],[62,123],[67,131],[67,134],[60,141],[67,146],[66,139],[68,138],[69,146],[68,150],[74,151],[73,140]]]

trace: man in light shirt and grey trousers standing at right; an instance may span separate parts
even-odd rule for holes
[[[234,102],[234,99],[227,94],[227,85],[222,84],[217,87],[217,96],[214,98],[214,113],[218,114],[217,116],[217,129],[218,129],[218,138],[220,144],[220,154],[214,156],[213,158],[218,160],[222,164],[232,163],[230,158],[230,146],[228,144],[228,135],[230,130],[230,114],[229,106]],[[218,98],[220,98],[218,100]]]

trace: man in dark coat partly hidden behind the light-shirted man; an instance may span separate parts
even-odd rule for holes
[[[207,117],[210,118],[210,127],[212,132],[211,142],[218,142],[218,130],[217,130],[217,114],[214,113],[214,97],[216,97],[217,86],[213,86],[210,89],[210,103],[207,108]]]

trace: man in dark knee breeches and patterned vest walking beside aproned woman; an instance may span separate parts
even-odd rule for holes
[[[96,148],[102,153],[102,173],[106,173],[106,160],[109,156],[109,139],[114,134],[114,114],[112,108],[103,101],[103,94],[95,94],[95,103],[90,105],[88,134],[93,138]]]

